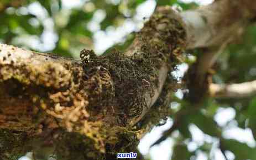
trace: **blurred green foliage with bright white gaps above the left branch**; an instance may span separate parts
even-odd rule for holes
[[[144,2],[146,0],[76,0],[73,3],[68,0],[1,0],[0,42],[78,57],[83,48],[94,48],[93,36],[97,31],[107,31],[109,27],[118,28],[126,20],[137,23],[136,9]],[[156,4],[175,4],[184,9],[197,6],[196,3],[173,0],[156,1]],[[102,20],[97,17],[98,12],[106,14]],[[53,37],[46,40],[45,35],[49,34]],[[124,49],[132,41],[130,36],[124,39],[128,41],[114,47]]]

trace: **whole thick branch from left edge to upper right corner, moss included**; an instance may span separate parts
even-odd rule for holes
[[[32,150],[58,159],[137,152],[139,138],[169,114],[171,93],[179,87],[170,72],[182,51],[220,45],[253,17],[250,1],[236,2],[183,13],[158,8],[126,52],[97,57],[83,50],[82,61],[0,45],[1,158]]]

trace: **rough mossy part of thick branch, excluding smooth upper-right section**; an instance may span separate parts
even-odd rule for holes
[[[169,7],[160,8],[127,52],[97,57],[83,50],[82,61],[1,45],[0,126],[25,134],[28,146],[10,143],[2,156],[14,156],[12,149],[19,147],[27,152],[42,138],[52,148],[47,154],[62,159],[136,152],[146,129],[135,124],[158,98],[184,48],[185,31],[175,16]]]

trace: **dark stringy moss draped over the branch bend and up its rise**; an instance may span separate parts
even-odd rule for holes
[[[137,34],[128,50],[132,53],[129,56],[117,50],[99,57],[93,51],[81,51],[83,70],[89,77],[99,67],[111,75],[114,114],[119,116],[121,125],[137,118],[143,109],[149,107],[145,97],[146,94],[154,96],[159,83],[159,68],[165,63],[170,71],[175,69],[185,46],[185,36],[185,30],[175,13],[170,8],[162,8]],[[176,81],[171,81],[173,89],[176,88],[175,84]]]

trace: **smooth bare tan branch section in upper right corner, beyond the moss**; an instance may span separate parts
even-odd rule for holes
[[[256,2],[222,0],[180,15],[186,24],[187,48],[222,45],[255,18]]]

